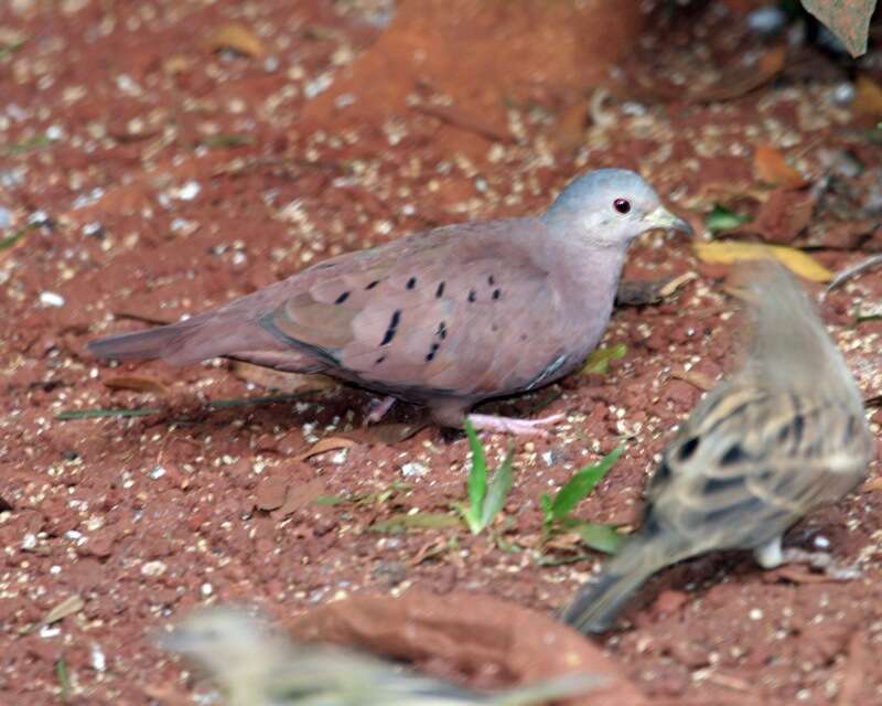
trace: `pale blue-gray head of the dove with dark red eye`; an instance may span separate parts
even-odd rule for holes
[[[662,205],[646,180],[627,169],[598,169],[570,182],[542,220],[568,237],[622,248],[655,228],[691,233],[692,228]]]

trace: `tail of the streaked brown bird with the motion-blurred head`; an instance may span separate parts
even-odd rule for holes
[[[561,616],[563,622],[579,632],[605,632],[644,581],[679,558],[682,557],[673,556],[658,539],[634,537],[567,606]]]

